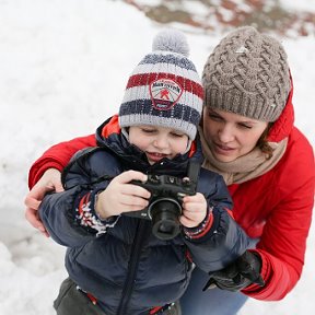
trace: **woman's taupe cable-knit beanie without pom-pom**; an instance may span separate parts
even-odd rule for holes
[[[262,121],[275,121],[291,89],[287,54],[254,27],[224,37],[203,68],[205,105]]]

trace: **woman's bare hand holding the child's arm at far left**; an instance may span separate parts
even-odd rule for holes
[[[63,191],[61,184],[61,173],[56,168],[48,168],[42,178],[26,195],[24,200],[24,205],[26,206],[26,220],[47,237],[49,237],[49,234],[39,219],[38,208],[45,195],[52,190],[56,192]]]

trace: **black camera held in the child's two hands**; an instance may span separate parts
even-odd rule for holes
[[[188,176],[148,175],[145,183],[131,180],[151,192],[149,206],[139,211],[125,212],[128,217],[152,220],[152,233],[160,240],[172,240],[179,233],[183,197],[196,195],[200,165],[190,163]]]

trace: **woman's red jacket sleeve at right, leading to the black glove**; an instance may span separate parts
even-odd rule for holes
[[[310,143],[296,130],[290,141],[285,155],[266,183],[269,192],[266,194],[265,190],[268,198],[265,199],[265,206],[267,209],[269,203],[272,210],[265,217],[264,232],[255,249],[262,260],[261,276],[266,285],[260,288],[253,284],[242,291],[257,300],[283,299],[299,281],[304,265],[314,207],[314,155]],[[254,191],[250,192],[254,197]],[[257,199],[256,194],[256,205]],[[260,215],[264,210],[261,207],[257,208],[256,215]]]

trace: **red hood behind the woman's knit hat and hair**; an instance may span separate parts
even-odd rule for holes
[[[291,81],[291,90],[288,96],[287,104],[280,117],[273,122],[269,131],[269,135],[267,138],[269,142],[280,142],[284,138],[289,137],[293,128],[293,124],[294,124],[294,109],[293,109],[293,104],[292,104],[293,81],[292,81],[291,74],[290,74],[290,81]]]

